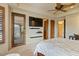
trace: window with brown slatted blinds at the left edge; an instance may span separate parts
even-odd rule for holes
[[[4,43],[5,40],[5,8],[0,6],[0,43]]]

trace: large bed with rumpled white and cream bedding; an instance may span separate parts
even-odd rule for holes
[[[37,44],[35,56],[79,56],[79,40],[51,39]]]

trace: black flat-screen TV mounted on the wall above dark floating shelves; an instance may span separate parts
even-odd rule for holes
[[[42,27],[43,26],[43,19],[30,16],[29,17],[29,26]]]

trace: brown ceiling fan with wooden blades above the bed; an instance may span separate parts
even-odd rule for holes
[[[74,6],[75,3],[69,3],[69,4],[61,4],[61,3],[56,3],[56,6],[54,8],[54,10],[48,10],[48,11],[62,11],[62,12],[66,12],[67,10],[65,10],[65,8],[71,8],[72,6]],[[55,13],[56,13],[55,12]]]

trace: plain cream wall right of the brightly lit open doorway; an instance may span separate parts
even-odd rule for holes
[[[66,37],[79,33],[79,13],[66,16]]]

